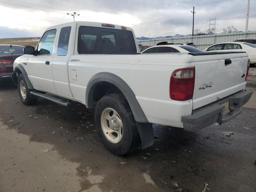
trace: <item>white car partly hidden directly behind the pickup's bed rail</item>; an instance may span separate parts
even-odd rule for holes
[[[204,51],[202,51],[194,46],[166,43],[166,44],[152,46],[152,47],[146,49],[145,51],[143,51],[142,54],[147,54],[147,53],[190,53],[190,52],[204,52]]]

